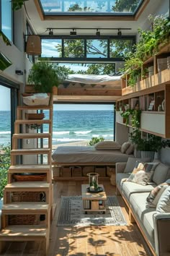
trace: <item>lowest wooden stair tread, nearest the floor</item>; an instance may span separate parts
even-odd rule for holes
[[[35,239],[46,238],[48,229],[37,225],[6,226],[0,231],[0,241],[35,241]]]

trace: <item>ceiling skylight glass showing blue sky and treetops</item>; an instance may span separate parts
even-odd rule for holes
[[[144,0],[40,0],[45,15],[134,15]]]

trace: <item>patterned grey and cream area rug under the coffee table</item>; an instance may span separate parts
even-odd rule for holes
[[[125,217],[117,197],[106,200],[106,212],[87,212],[83,210],[81,196],[61,197],[61,209],[57,226],[125,226]]]

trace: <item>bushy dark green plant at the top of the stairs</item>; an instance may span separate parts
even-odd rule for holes
[[[53,93],[53,87],[66,79],[68,70],[51,64],[48,61],[39,61],[32,65],[28,75],[29,84],[33,84],[36,93]]]

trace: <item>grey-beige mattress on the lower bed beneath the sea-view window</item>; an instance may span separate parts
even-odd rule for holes
[[[58,164],[112,164],[127,162],[129,157],[120,150],[96,150],[93,146],[59,146],[53,151],[52,159]]]

